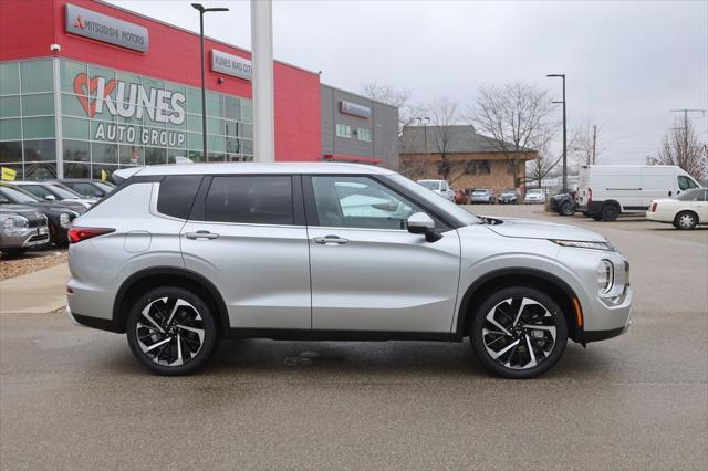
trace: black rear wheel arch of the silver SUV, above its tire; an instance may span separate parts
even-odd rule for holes
[[[219,290],[199,273],[176,266],[153,266],[140,270],[121,284],[113,302],[113,322],[119,333],[125,333],[129,308],[137,297],[158,286],[183,287],[201,297],[216,316],[218,334],[228,335],[229,315]]]

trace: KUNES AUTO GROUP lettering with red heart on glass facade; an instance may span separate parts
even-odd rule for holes
[[[111,94],[115,91],[114,97]],[[185,94],[163,88],[146,88],[135,83],[106,80],[102,76],[88,78],[82,72],[74,77],[74,92],[81,107],[93,118],[108,113],[123,118],[147,117],[156,123],[181,125],[185,122]],[[129,124],[97,122],[94,140],[110,140],[145,146],[181,147],[185,133],[155,129]]]

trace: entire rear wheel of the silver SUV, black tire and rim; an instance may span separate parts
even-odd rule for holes
[[[183,303],[175,308],[180,301]],[[147,316],[144,316],[146,308]],[[126,333],[135,357],[143,366],[163,376],[195,371],[209,359],[217,345],[217,326],[207,304],[190,291],[174,286],[156,287],[140,296],[131,307]],[[138,337],[146,343],[139,342]],[[183,358],[178,364],[180,355]],[[185,359],[187,355],[189,358]],[[176,358],[170,362],[173,357]]]

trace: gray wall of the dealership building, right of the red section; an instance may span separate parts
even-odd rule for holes
[[[363,118],[341,113],[341,101],[367,106],[372,109],[372,116]],[[324,84],[320,85],[320,106],[322,154],[373,157],[383,160],[384,167],[396,165],[398,161],[398,108]],[[336,124],[348,124],[353,132],[360,127],[368,128],[372,130],[372,142],[358,140],[356,134],[352,134],[351,138],[336,137]]]

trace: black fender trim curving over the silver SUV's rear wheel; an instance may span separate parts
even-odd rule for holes
[[[133,273],[123,282],[123,284],[121,284],[121,287],[116,292],[115,299],[113,301],[113,323],[114,325],[118,326],[122,332],[125,332],[125,320],[121,318],[121,313],[123,312],[123,302],[128,290],[133,287],[135,283],[138,283],[152,276],[179,276],[199,285],[202,290],[209,293],[217,306],[218,312],[214,314],[219,316],[219,320],[221,321],[221,332],[229,332],[229,315],[226,308],[226,303],[223,302],[223,297],[221,297],[219,290],[216,289],[214,283],[211,283],[199,273],[177,266],[150,266],[149,269],[144,269]],[[205,301],[208,302],[209,300]]]

